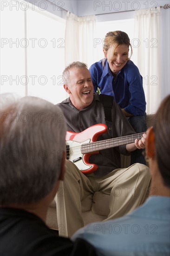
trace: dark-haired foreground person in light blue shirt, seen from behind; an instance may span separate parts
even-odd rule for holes
[[[73,241],[84,238],[100,256],[170,255],[170,95],[156,115],[146,137],[152,176],[149,198],[124,217],[91,223],[72,236]]]

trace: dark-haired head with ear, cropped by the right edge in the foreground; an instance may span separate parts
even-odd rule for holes
[[[154,126],[148,129],[146,152],[151,161],[157,162],[163,185],[170,188],[170,95],[161,102],[156,116]],[[150,167],[152,173],[156,166]]]

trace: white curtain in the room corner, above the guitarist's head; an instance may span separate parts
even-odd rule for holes
[[[95,61],[95,15],[78,17],[70,12],[66,16],[65,66],[72,61],[85,62],[88,67]]]

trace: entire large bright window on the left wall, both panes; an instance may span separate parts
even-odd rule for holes
[[[33,95],[56,104],[66,98],[65,20],[36,6],[24,11],[24,5],[17,8],[19,1],[10,2],[13,6],[1,12],[0,93]]]

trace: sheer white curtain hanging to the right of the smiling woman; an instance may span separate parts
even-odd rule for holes
[[[157,111],[161,101],[160,7],[135,11],[133,51],[143,76],[146,113]]]

